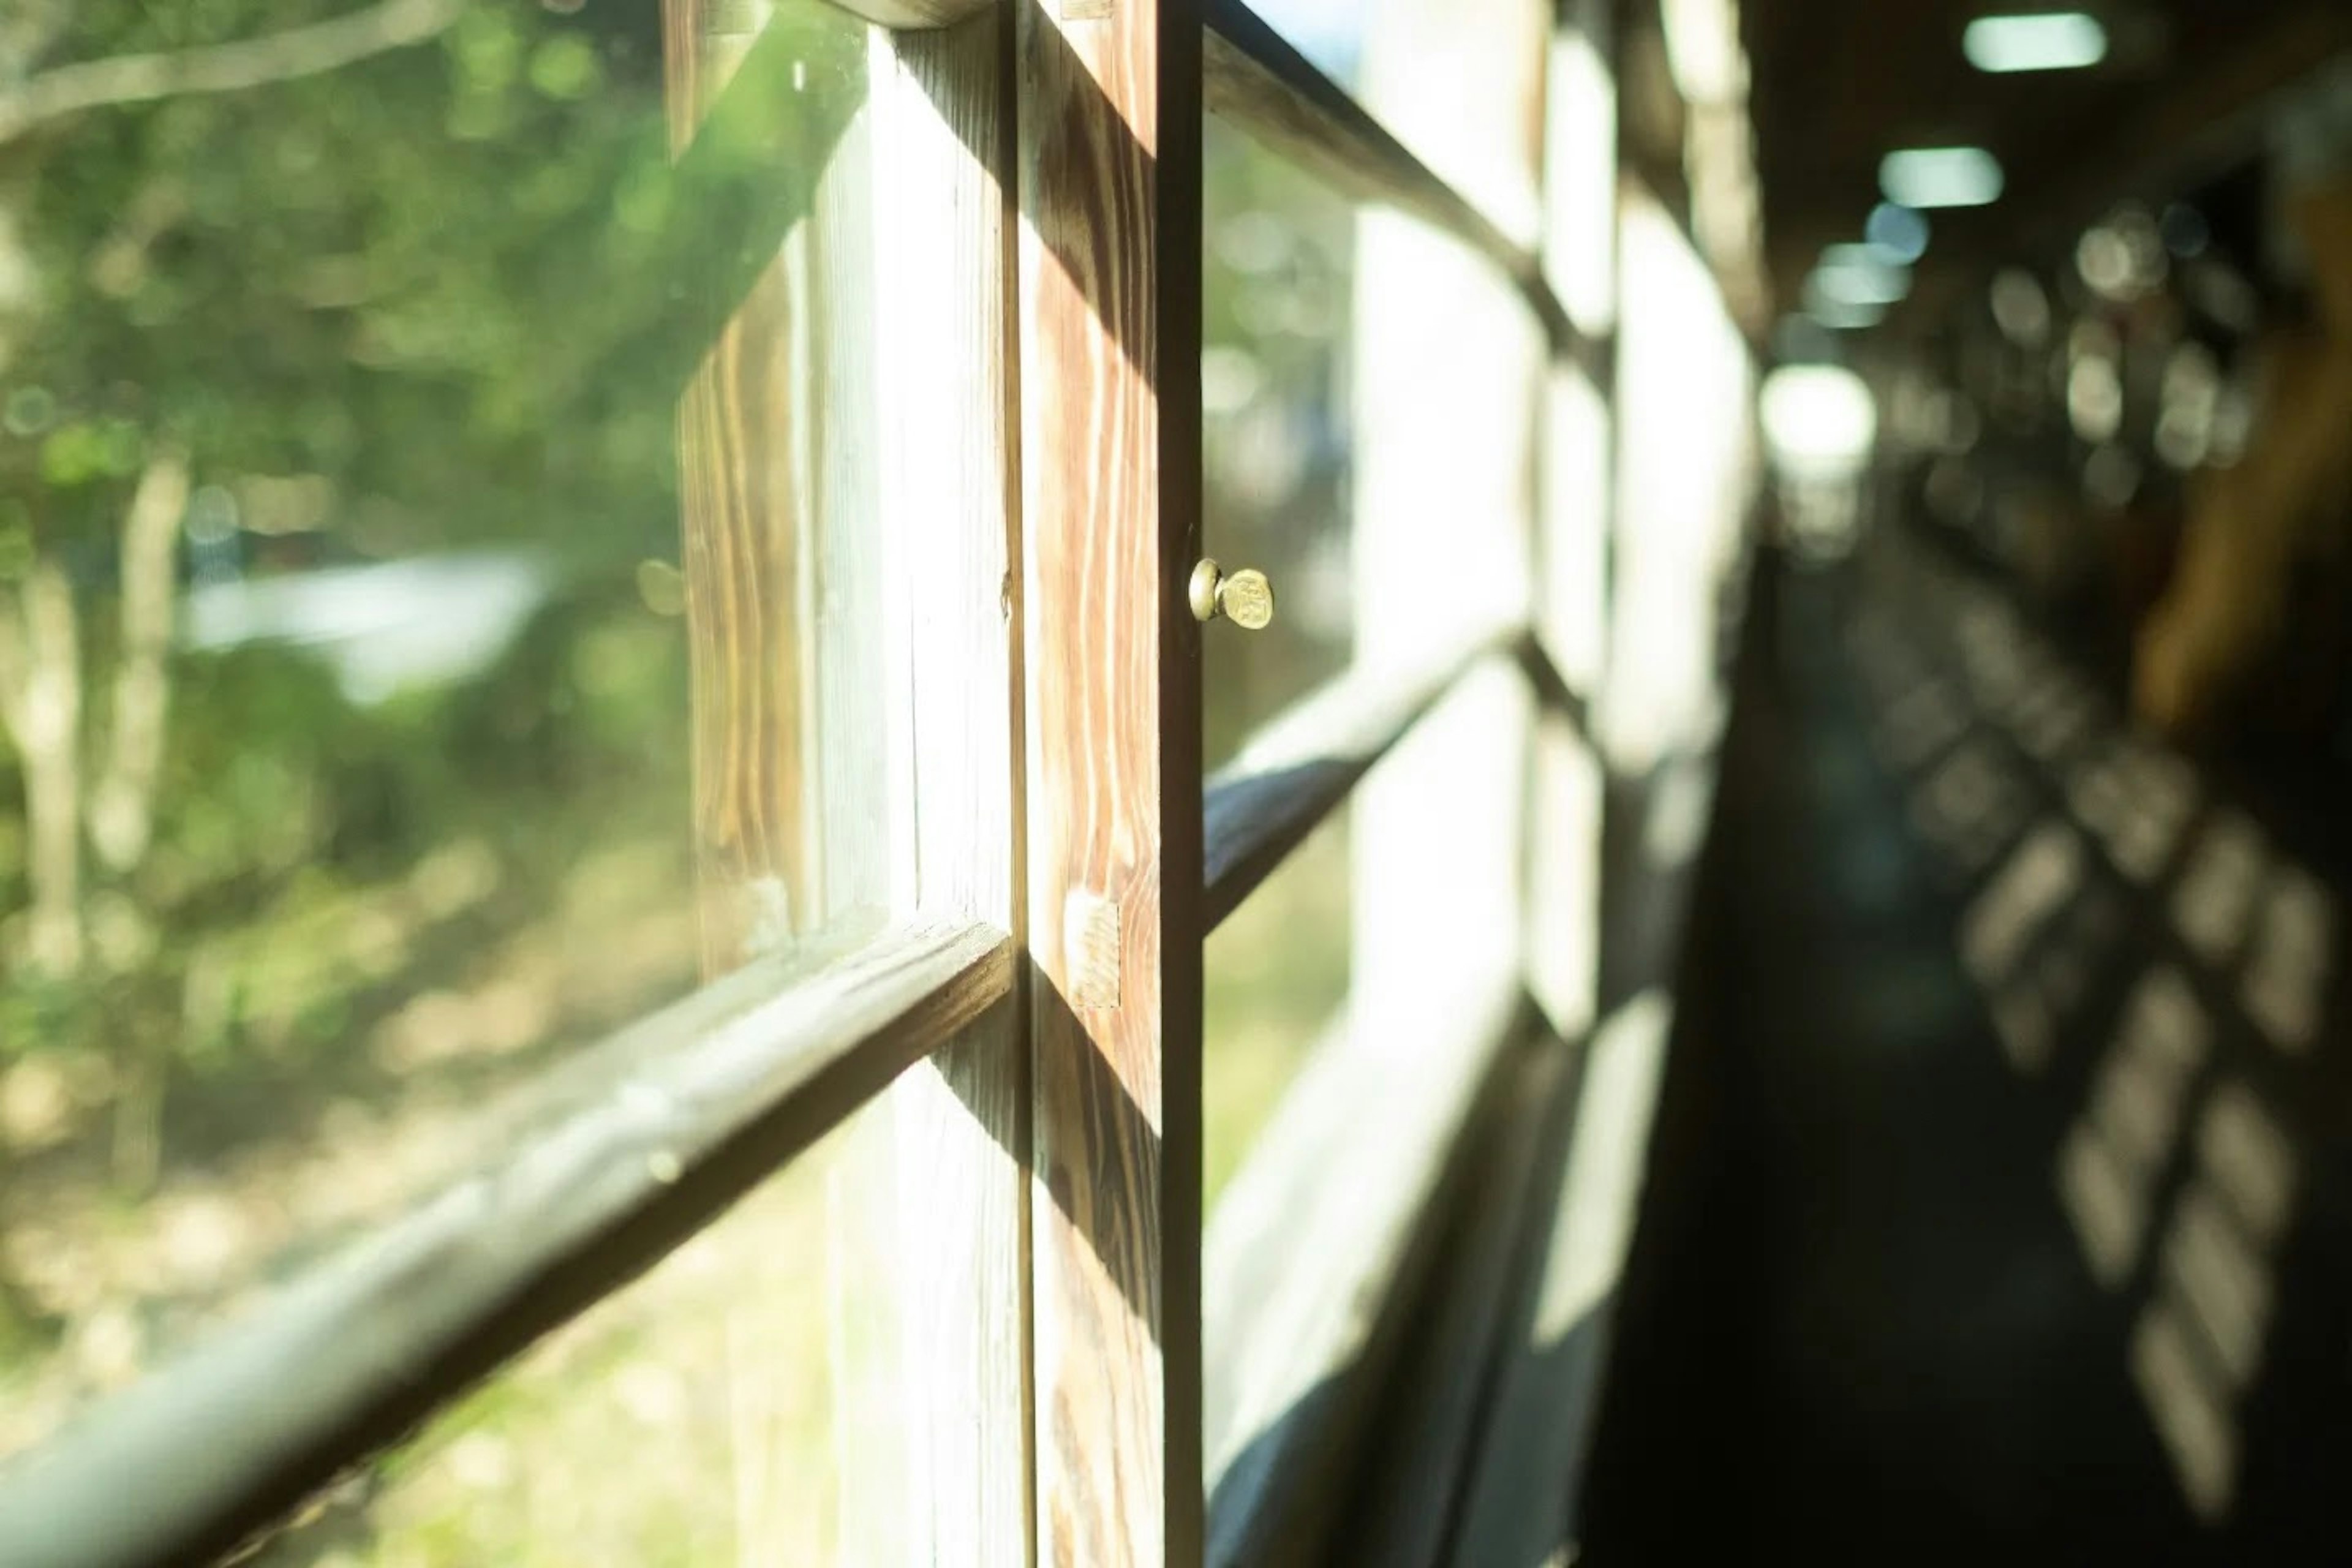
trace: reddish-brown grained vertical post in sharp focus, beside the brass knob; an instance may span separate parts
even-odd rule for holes
[[[1200,1561],[1200,16],[1023,0],[1037,1556]]]

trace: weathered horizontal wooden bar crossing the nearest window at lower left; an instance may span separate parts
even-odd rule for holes
[[[1014,985],[1011,938],[978,924],[896,929],[809,973],[816,957],[762,959],[567,1063],[548,1086],[564,1114],[499,1166],[14,1467],[0,1561],[214,1561],[652,1267]]]

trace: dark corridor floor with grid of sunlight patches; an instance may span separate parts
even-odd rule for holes
[[[2340,1556],[2324,823],[1900,538],[1759,559],[1722,780],[1585,1561]]]

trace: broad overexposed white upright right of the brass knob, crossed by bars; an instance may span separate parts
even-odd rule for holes
[[[1364,103],[1512,212],[1534,186],[1536,0],[1369,9]],[[1404,214],[1357,216],[1355,268],[1355,663],[1416,668],[1529,614],[1543,341],[1501,273]],[[1515,672],[1472,670],[1357,790],[1357,1048],[1451,1039],[1524,987],[1531,710]]]

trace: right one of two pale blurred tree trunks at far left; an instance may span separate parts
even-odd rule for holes
[[[162,447],[139,475],[122,515],[122,654],[115,670],[113,733],[89,797],[89,842],[120,875],[146,856],[155,830],[165,712],[172,696],[172,607],[179,595],[179,520],[188,510],[188,458]]]

